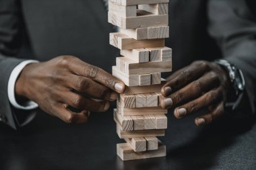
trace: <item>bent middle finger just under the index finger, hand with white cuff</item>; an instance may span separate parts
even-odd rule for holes
[[[108,87],[100,85],[86,77],[77,75],[71,75],[69,77],[69,80],[67,80],[67,87],[75,89],[75,91],[79,91],[80,93],[86,93],[92,97],[106,99],[109,101],[116,100],[118,96],[117,92],[109,89]]]

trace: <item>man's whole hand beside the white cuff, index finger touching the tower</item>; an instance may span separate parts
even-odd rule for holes
[[[58,56],[27,65],[15,84],[15,93],[67,123],[87,122],[90,111],[104,112],[125,85],[74,56]],[[70,108],[79,110],[72,112]]]

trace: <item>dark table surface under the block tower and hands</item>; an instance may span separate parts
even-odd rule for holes
[[[198,128],[195,115],[168,114],[161,140],[167,156],[121,161],[113,111],[91,114],[86,125],[71,125],[39,112],[15,131],[0,124],[0,169],[256,169],[254,120],[218,120]]]

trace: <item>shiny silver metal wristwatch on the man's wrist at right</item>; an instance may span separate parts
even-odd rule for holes
[[[235,110],[240,103],[243,93],[245,91],[245,78],[241,69],[238,69],[235,65],[233,65],[228,60],[215,60],[216,64],[220,65],[223,69],[225,69],[229,75],[230,83],[234,89],[234,93],[236,96],[235,101],[227,101],[226,108],[230,108],[231,110]]]

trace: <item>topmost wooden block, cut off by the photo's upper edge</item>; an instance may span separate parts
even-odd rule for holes
[[[169,0],[110,0],[119,5],[140,5],[140,4],[154,4],[154,3],[168,3]]]

